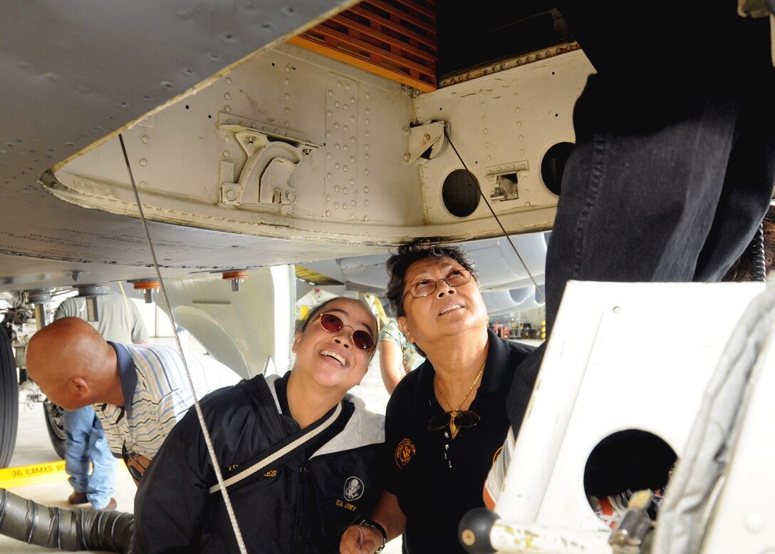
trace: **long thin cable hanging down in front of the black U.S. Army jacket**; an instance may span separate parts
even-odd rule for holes
[[[236,536],[237,545],[239,545],[239,552],[242,552],[242,554],[247,554],[247,549],[245,548],[245,542],[243,542],[243,538],[242,538],[242,532],[239,531],[239,524],[237,523],[236,516],[234,515],[234,509],[232,508],[232,501],[229,499],[229,493],[226,491],[226,485],[224,485],[223,483],[223,476],[221,475],[221,467],[219,466],[218,459],[216,459],[215,457],[215,448],[212,447],[210,434],[207,430],[207,425],[205,424],[205,416],[202,414],[202,407],[199,406],[199,400],[197,399],[196,391],[194,390],[194,383],[191,381],[191,374],[188,372],[188,362],[186,362],[186,358],[183,355],[181,338],[180,338],[180,335],[177,334],[177,323],[175,322],[175,317],[174,317],[174,314],[172,313],[172,307],[170,306],[170,301],[167,298],[167,289],[164,288],[164,279],[162,279],[161,277],[161,271],[159,269],[159,264],[156,258],[156,251],[153,249],[153,241],[150,240],[150,230],[148,230],[148,222],[146,221],[145,214],[143,213],[143,206],[140,204],[140,194],[137,192],[137,186],[135,185],[135,177],[132,173],[132,166],[131,164],[129,164],[129,156],[126,154],[126,146],[124,145],[124,137],[122,133],[119,133],[119,142],[121,143],[122,154],[124,154],[126,171],[129,171],[129,182],[132,183],[132,190],[135,193],[135,203],[137,204],[138,212],[140,212],[140,220],[143,221],[143,229],[145,230],[146,239],[148,240],[148,247],[150,248],[150,254],[153,257],[153,268],[155,269],[157,278],[159,279],[161,295],[164,297],[164,303],[167,304],[167,313],[169,314],[170,320],[172,322],[172,331],[175,337],[175,343],[177,344],[177,351],[180,352],[181,358],[183,360],[186,380],[188,381],[188,390],[191,392],[191,396],[193,396],[194,398],[194,407],[196,409],[196,414],[199,419],[199,426],[202,428],[202,434],[205,435],[205,444],[207,445],[207,450],[210,454],[212,469],[213,471],[215,471],[215,478],[218,480],[221,494],[223,496],[223,502],[226,504],[226,511],[229,514],[229,520],[232,522],[232,529],[234,530],[234,535]]]

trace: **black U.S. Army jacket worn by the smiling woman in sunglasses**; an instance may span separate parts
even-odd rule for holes
[[[224,480],[299,430],[281,414],[287,376],[269,380],[257,376],[202,400]],[[358,399],[340,405],[335,422],[307,445],[228,487],[248,552],[339,552],[344,529],[370,514],[382,490],[383,417]],[[214,485],[197,415],[189,410],[137,490],[135,552],[239,552],[222,495],[210,492]]]

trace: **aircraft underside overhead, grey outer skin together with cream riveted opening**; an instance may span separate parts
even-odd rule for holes
[[[577,45],[421,93],[284,43],[350,5],[4,5],[0,290],[152,277],[136,193],[167,275],[549,230]]]

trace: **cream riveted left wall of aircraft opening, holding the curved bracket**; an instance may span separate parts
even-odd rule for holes
[[[401,122],[411,118],[398,83],[283,47],[140,119],[123,139],[150,219],[360,242],[371,228],[422,224],[418,172],[401,164]],[[119,137],[56,178],[57,196],[137,213]]]

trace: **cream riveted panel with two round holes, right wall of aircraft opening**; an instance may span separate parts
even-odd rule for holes
[[[552,227],[558,196],[543,166],[553,147],[575,142],[574,105],[594,70],[580,50],[563,48],[514,63],[416,99],[418,122],[443,121],[449,137],[436,157],[419,160],[425,220],[444,236],[496,235],[488,204],[510,232]],[[445,199],[454,171],[473,173],[482,192],[468,216]]]

